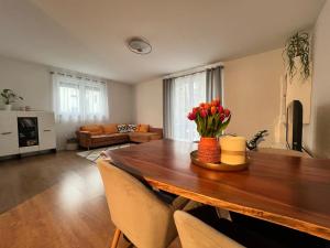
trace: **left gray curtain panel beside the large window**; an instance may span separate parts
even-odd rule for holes
[[[164,138],[172,139],[172,109],[173,109],[174,78],[163,79],[163,128]]]

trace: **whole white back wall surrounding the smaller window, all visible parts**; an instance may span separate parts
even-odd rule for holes
[[[52,111],[52,79],[50,68],[44,65],[7,58],[0,56],[0,90],[13,89],[24,100],[14,105],[31,106],[36,110]],[[133,86],[116,82],[108,82],[109,121],[133,121],[134,91]],[[0,104],[1,107],[2,103]],[[72,125],[56,125],[57,145],[63,149],[67,138],[75,137],[77,127]]]

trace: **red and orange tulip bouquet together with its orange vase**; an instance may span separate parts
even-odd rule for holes
[[[220,100],[202,103],[193,108],[188,119],[197,125],[200,134],[198,143],[198,159],[205,163],[216,163],[220,160],[220,145],[218,137],[230,122],[231,114],[220,105]]]

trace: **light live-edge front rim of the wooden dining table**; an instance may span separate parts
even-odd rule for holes
[[[289,228],[294,228],[294,229],[297,229],[297,230],[300,230],[304,233],[308,233],[310,235],[330,240],[330,229],[324,228],[319,225],[316,225],[316,224],[310,224],[310,223],[307,223],[307,222],[304,222],[300,219],[273,214],[273,213],[261,211],[261,209],[253,208],[253,207],[241,206],[239,204],[229,203],[229,202],[218,200],[218,198],[212,198],[212,197],[201,195],[201,194],[198,194],[198,193],[195,193],[191,191],[187,191],[182,187],[177,187],[177,186],[174,186],[174,185],[170,185],[167,183],[160,182],[157,180],[153,180],[151,177],[144,177],[144,179],[152,186],[155,186],[162,191],[166,191],[166,192],[169,192],[169,193],[173,193],[176,195],[180,195],[180,196],[184,196],[186,198],[189,198],[189,200],[202,203],[202,204],[211,205],[215,207],[222,207],[228,211],[232,211],[235,213],[244,214],[244,215],[248,215],[251,217],[260,218],[260,219],[263,219],[266,222],[271,222],[271,223],[286,226]]]

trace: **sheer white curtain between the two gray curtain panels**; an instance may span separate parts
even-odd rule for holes
[[[206,72],[177,77],[173,87],[172,139],[196,141],[196,123],[187,119],[191,108],[206,101]]]

